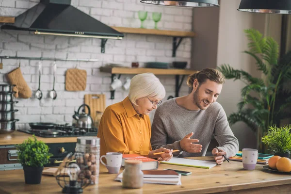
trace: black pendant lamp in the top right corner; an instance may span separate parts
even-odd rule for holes
[[[291,0],[242,0],[238,10],[265,14],[291,14]]]

